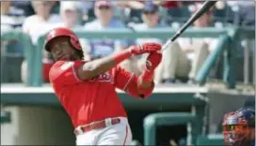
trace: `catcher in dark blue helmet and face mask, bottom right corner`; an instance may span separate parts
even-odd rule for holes
[[[223,135],[228,146],[255,146],[255,110],[240,109],[226,113]]]

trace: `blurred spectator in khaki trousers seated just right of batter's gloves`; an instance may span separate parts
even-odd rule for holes
[[[201,5],[196,4],[196,9]],[[194,29],[210,26],[211,12],[203,14],[196,22]],[[175,82],[176,78],[188,77],[190,83],[195,82],[196,75],[204,60],[216,48],[216,38],[178,38],[163,55],[163,64],[160,67],[162,79],[166,83]],[[168,70],[168,71],[167,71]]]

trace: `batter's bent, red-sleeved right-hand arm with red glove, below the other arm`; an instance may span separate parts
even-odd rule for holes
[[[147,58],[146,66],[141,75],[136,76],[119,68],[116,73],[115,85],[126,93],[146,98],[154,88],[153,72],[162,60],[161,52],[152,52]]]

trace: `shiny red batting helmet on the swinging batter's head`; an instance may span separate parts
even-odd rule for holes
[[[44,45],[45,51],[51,51],[49,44],[52,40],[54,40],[58,36],[70,36],[70,42],[72,47],[76,50],[82,50],[78,37],[72,32],[72,30],[68,28],[58,27],[51,30],[46,36],[46,42]]]

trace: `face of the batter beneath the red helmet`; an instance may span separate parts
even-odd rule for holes
[[[78,58],[69,39],[67,36],[56,37],[50,42],[50,49],[55,60],[76,60]]]

